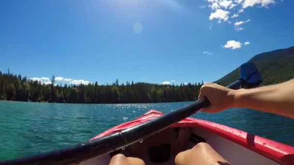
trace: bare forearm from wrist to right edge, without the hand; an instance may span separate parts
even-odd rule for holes
[[[233,92],[234,107],[245,107],[294,118],[294,80]]]

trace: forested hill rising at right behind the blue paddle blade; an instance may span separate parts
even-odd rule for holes
[[[261,85],[281,83],[294,78],[294,46],[255,55],[249,62],[253,62],[263,76],[264,82]],[[239,78],[239,69],[233,70],[215,83],[227,85],[234,82]]]

